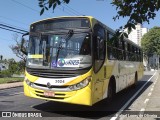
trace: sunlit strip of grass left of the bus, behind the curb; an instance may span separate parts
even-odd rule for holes
[[[24,78],[20,77],[11,77],[11,78],[0,78],[0,84],[3,83],[13,83],[13,82],[22,82]]]

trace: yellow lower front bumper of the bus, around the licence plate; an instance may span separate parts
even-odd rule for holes
[[[89,84],[87,87],[80,89],[78,91],[55,92],[55,94],[58,94],[58,93],[65,94],[65,96],[55,95],[55,97],[63,98],[63,99],[50,99],[45,97],[39,97],[37,96],[37,94],[43,95],[43,93],[36,93],[35,90],[44,92],[44,90],[31,88],[24,82],[24,94],[28,97],[50,100],[50,101],[66,102],[66,103],[72,103],[72,104],[81,104],[81,105],[89,105],[89,106],[92,105],[91,84]]]

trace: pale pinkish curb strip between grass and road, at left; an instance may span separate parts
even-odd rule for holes
[[[23,86],[23,82],[0,84],[0,90]]]

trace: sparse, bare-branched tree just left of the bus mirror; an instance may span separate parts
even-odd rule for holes
[[[21,41],[18,40],[18,34],[13,34],[13,40],[16,44],[9,46],[14,54],[24,62],[26,62],[26,55],[21,52]],[[27,43],[25,43],[27,45]]]

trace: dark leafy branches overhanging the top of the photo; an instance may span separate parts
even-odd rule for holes
[[[40,15],[50,8],[54,10],[62,2],[68,4],[70,0],[39,0]],[[112,0],[111,4],[117,10],[117,15],[113,17],[114,20],[129,17],[126,25],[120,26],[117,30],[118,35],[122,33],[119,31],[125,28],[128,28],[128,33],[130,33],[132,29],[135,29],[137,23],[149,23],[149,20],[154,19],[156,12],[160,9],[160,0]]]

